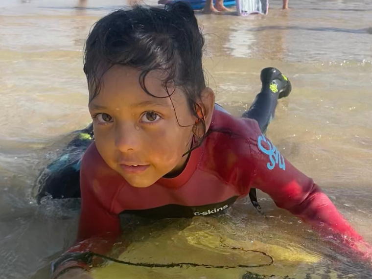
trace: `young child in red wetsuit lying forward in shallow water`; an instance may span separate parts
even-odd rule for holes
[[[95,24],[84,65],[95,139],[81,162],[78,243],[54,263],[53,278],[91,278],[92,259],[83,256],[111,250],[123,211],[209,216],[252,187],[321,232],[355,249],[364,243],[313,180],[262,134],[278,98],[290,93],[287,78],[264,69],[251,109],[234,118],[215,106],[206,86],[203,46],[183,2],[119,10]]]

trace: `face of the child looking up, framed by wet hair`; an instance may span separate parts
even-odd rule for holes
[[[148,187],[183,168],[187,156],[182,155],[190,148],[196,117],[182,91],[176,89],[168,97],[159,73],[152,71],[145,78],[147,90],[159,98],[142,90],[139,77],[140,71],[130,67],[108,70],[89,111],[103,160],[130,185]]]

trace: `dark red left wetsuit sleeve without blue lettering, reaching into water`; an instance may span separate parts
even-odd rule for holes
[[[80,170],[81,213],[77,243],[53,263],[53,279],[70,268],[89,270],[90,266],[99,264],[100,259],[90,252],[109,253],[121,233],[119,216],[109,210],[113,197],[105,197],[108,205],[98,198],[97,192],[105,187],[104,180],[99,179],[99,171],[95,167],[92,169],[92,162],[87,162],[89,158],[85,157]]]

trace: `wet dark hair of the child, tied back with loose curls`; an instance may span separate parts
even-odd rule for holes
[[[203,127],[206,136],[204,108],[198,105],[206,88],[202,67],[204,38],[192,8],[185,2],[167,4],[163,9],[135,6],[115,11],[100,19],[93,27],[85,46],[84,72],[89,87],[89,102],[100,92],[102,76],[115,65],[141,71],[140,86],[146,75],[162,70],[163,87],[180,88],[185,93],[191,113]],[[201,103],[201,102],[200,102]],[[176,116],[177,117],[177,116]],[[196,146],[193,146],[193,149]]]

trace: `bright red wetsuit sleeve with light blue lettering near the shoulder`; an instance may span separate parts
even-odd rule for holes
[[[279,208],[287,209],[323,234],[331,231],[349,246],[354,246],[355,241],[364,242],[320,187],[285,160],[270,140],[257,133],[256,140],[250,141],[250,149],[250,165],[254,166],[251,186],[269,194]]]

